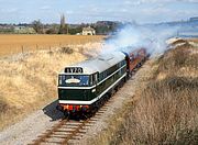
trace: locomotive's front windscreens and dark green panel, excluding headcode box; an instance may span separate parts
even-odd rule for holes
[[[58,97],[59,100],[89,101],[95,98],[97,74],[94,75],[59,75]],[[82,103],[82,102],[81,102]]]

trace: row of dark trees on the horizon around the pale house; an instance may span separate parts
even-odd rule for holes
[[[61,24],[43,24],[40,20],[32,22],[32,27],[37,34],[80,34],[84,27],[91,26],[96,34],[106,35],[117,31],[120,22],[98,21],[96,23],[66,24],[65,15],[61,15]]]

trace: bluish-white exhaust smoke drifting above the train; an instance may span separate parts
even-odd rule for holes
[[[127,25],[107,41],[102,53],[130,51],[144,47],[152,55],[160,55],[167,49],[166,40],[176,35],[174,26],[134,26]]]

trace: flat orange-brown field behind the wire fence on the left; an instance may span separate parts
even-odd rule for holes
[[[103,37],[96,35],[0,35],[0,56],[36,49],[53,49],[68,45],[82,45],[100,42]]]

